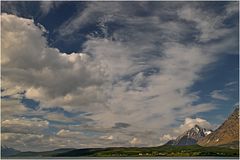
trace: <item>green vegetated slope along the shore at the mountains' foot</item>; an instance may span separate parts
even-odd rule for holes
[[[106,148],[106,149],[87,149],[72,150],[65,153],[57,154],[58,157],[185,157],[185,156],[227,156],[237,157],[239,152],[237,149],[229,149],[223,147],[201,147],[192,146],[161,146],[148,148]]]

